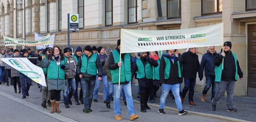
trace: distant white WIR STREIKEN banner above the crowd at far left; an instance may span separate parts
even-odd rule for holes
[[[26,41],[26,40],[14,39],[6,36],[3,36],[3,40],[5,41],[5,46],[14,46],[14,45],[39,46],[39,45],[51,44],[51,37],[49,34],[43,39],[40,39],[37,41]]]

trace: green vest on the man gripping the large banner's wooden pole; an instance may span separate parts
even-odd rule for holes
[[[120,54],[117,50],[114,50],[113,52],[114,57],[114,63],[118,63],[120,61]],[[125,54],[124,58],[125,62],[123,62],[121,58],[121,71],[120,71],[120,82],[126,82],[131,81],[131,56],[130,53]],[[112,75],[112,83],[118,83],[119,82],[119,68],[110,70],[110,73]]]

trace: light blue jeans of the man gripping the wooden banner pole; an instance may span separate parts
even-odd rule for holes
[[[125,97],[126,97],[129,116],[134,115],[135,110],[133,108],[133,96],[131,96],[131,82],[129,82],[128,84],[121,84],[120,89],[118,89],[118,84],[114,84],[113,86],[114,86],[114,112],[115,112],[115,116],[121,115],[121,110],[120,110],[121,90],[125,91]]]

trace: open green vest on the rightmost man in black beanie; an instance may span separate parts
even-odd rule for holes
[[[218,54],[221,54],[218,53]],[[235,64],[236,64],[236,76],[235,76],[235,79],[237,81],[237,56],[236,54],[232,53],[233,56],[234,56],[234,61],[235,61]],[[222,59],[224,60],[224,59]],[[228,63],[228,62],[227,62]],[[221,64],[220,66],[216,66],[215,69],[214,69],[214,72],[215,72],[215,82],[221,82],[221,75],[222,75],[222,61],[221,61]]]

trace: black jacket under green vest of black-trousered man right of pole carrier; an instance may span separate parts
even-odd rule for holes
[[[154,66],[155,68],[158,67],[158,62],[156,62],[152,58],[149,58],[149,57],[143,58],[143,57],[141,57],[141,61],[144,65],[144,68],[145,68],[145,65],[146,65],[147,61],[150,65]],[[134,66],[133,66],[133,71],[131,72],[131,74],[134,75],[136,73],[136,71],[138,71],[138,66],[135,62]],[[135,74],[135,78],[137,78],[137,74]],[[154,85],[153,79],[147,79],[146,76],[143,79],[138,79],[138,81],[139,81],[139,86],[140,87],[151,87],[151,86]]]

